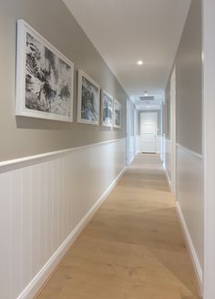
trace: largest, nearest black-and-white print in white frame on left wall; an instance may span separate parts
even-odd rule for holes
[[[74,64],[23,20],[16,61],[15,115],[72,121]]]

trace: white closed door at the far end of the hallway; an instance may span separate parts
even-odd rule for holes
[[[156,152],[157,112],[143,112],[140,116],[140,151]]]

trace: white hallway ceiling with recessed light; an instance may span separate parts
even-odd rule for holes
[[[63,1],[133,102],[163,97],[190,0]]]

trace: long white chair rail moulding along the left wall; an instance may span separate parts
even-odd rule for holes
[[[92,143],[92,144],[85,145],[82,147],[61,149],[61,150],[50,151],[50,152],[46,152],[43,154],[29,156],[29,157],[25,157],[25,158],[2,161],[2,162],[0,162],[0,173],[10,171],[10,170],[15,170],[17,168],[24,168],[24,167],[34,165],[37,163],[41,163],[41,162],[44,162],[47,160],[54,160],[58,157],[67,156],[76,150],[82,150],[82,149],[88,149],[88,148],[92,148],[92,147],[102,146],[107,143],[114,143],[114,142],[118,142],[120,140],[123,140],[123,139],[113,139],[113,140],[108,140],[108,141],[103,141],[103,142]]]

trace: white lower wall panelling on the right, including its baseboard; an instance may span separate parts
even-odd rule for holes
[[[177,144],[177,211],[202,292],[204,179],[200,154]]]

